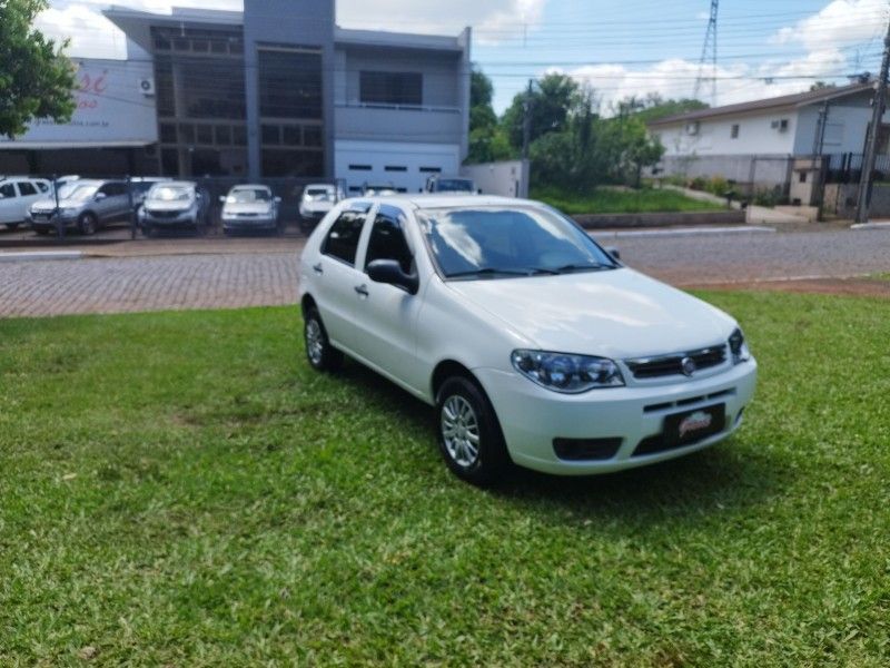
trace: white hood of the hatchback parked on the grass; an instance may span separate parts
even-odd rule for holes
[[[541,350],[613,358],[692,351],[729,337],[734,321],[629,268],[449,281],[475,306]]]

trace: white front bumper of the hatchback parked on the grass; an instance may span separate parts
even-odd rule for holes
[[[620,471],[713,445],[739,428],[756,383],[753,358],[702,380],[573,395],[541,387],[518,373],[494,369],[476,369],[474,373],[492,401],[513,461],[563,475]],[[725,405],[720,433],[683,446],[634,454],[641,442],[663,433],[666,416],[716,404]],[[567,460],[556,455],[555,439],[620,439],[621,444],[607,459]]]

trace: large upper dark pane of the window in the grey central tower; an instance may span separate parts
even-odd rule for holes
[[[322,118],[322,55],[259,51],[259,114],[266,118]]]

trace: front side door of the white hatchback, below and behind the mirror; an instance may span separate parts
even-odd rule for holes
[[[406,274],[417,271],[406,225],[405,214],[395,206],[380,205],[374,215],[366,235],[362,282],[357,284],[367,294],[356,294],[356,324],[360,331],[356,352],[394,380],[419,391],[425,382],[416,363],[421,298],[395,285],[374,283],[367,276],[367,266],[375,259],[394,259]]]

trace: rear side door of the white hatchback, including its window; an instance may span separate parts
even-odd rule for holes
[[[327,335],[337,347],[357,352],[359,341],[356,318],[360,313],[357,291],[364,273],[356,267],[358,244],[370,212],[367,203],[356,203],[340,213],[322,242],[320,253],[308,271]]]

